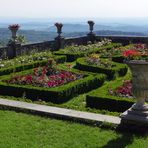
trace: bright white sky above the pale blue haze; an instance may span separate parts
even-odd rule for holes
[[[148,17],[148,0],[0,0],[0,17]]]

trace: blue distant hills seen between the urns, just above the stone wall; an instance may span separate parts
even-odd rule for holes
[[[88,33],[89,29],[87,25],[64,25],[63,36],[64,37],[77,37],[84,36]],[[100,28],[103,26],[99,26]],[[107,26],[106,26],[107,27]],[[49,32],[50,30],[50,32]],[[132,36],[146,36],[144,33],[140,32],[126,32],[126,31],[113,31],[113,30],[98,30],[95,31],[97,35],[132,35]],[[53,40],[56,36],[55,27],[51,27],[45,31],[36,30],[19,30],[18,34],[24,35],[29,42],[40,42]],[[11,38],[11,32],[7,28],[0,28],[0,44],[7,44],[8,40]]]

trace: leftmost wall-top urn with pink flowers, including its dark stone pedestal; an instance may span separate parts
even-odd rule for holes
[[[12,59],[17,56],[17,50],[20,49],[20,47],[21,47],[21,44],[18,43],[16,40],[17,39],[17,31],[20,28],[20,26],[18,24],[13,24],[13,25],[9,25],[8,28],[12,33],[12,37],[7,44],[7,46],[8,46],[7,57],[9,59]]]

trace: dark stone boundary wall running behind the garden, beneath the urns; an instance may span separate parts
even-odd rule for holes
[[[101,41],[104,38],[111,39],[112,42],[115,43],[122,43],[123,45],[129,44],[129,43],[147,43],[148,44],[148,37],[141,37],[141,36],[93,36],[94,41]],[[82,36],[82,37],[75,37],[75,38],[62,38],[62,44],[59,42],[56,42],[56,40],[53,41],[45,41],[45,42],[39,42],[39,43],[31,43],[31,44],[24,44],[20,46],[16,46],[16,55],[24,55],[24,54],[32,54],[34,52],[41,52],[45,50],[58,50],[60,49],[60,46],[62,45],[61,48],[65,46],[69,46],[72,44],[77,44],[77,45],[86,45],[87,42],[90,40],[90,36]],[[57,45],[59,44],[59,45]],[[58,47],[58,48],[57,48]],[[14,46],[13,46],[14,48]],[[8,47],[1,47],[0,48],[0,58],[13,58],[11,56],[11,45]],[[10,52],[8,54],[8,52]],[[14,55],[14,53],[13,53]]]

